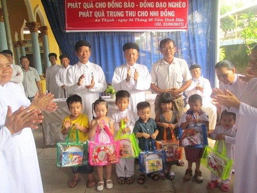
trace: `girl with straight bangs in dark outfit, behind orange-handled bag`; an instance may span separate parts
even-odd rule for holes
[[[166,129],[167,138],[171,139],[171,131],[178,127],[178,116],[176,111],[172,111],[172,96],[170,93],[162,93],[160,95],[160,110],[156,113],[155,121],[159,128],[159,134],[157,135],[157,140],[163,140],[164,129]],[[168,168],[168,178],[170,180],[175,179],[175,173],[171,171],[171,166],[173,162],[167,162]],[[159,178],[164,180],[164,172],[159,173]]]

